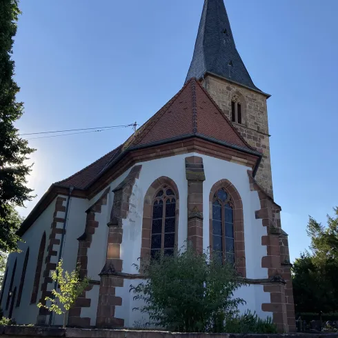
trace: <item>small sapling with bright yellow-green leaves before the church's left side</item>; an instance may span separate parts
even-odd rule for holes
[[[72,272],[63,271],[63,261],[59,261],[57,270],[52,272],[52,280],[56,281],[59,286],[59,292],[52,290],[54,298],[46,297],[45,301],[50,301],[51,305],[37,304],[38,308],[47,308],[57,315],[63,314],[63,328],[66,328],[68,312],[75,305],[75,301],[82,295],[83,291],[89,285],[88,277],[80,278],[79,266]]]

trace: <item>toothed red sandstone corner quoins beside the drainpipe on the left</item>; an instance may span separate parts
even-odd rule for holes
[[[50,263],[53,256],[57,256],[57,252],[59,251],[60,240],[56,239],[58,234],[62,234],[63,229],[57,228],[57,223],[63,223],[65,221],[64,218],[57,217],[57,212],[66,212],[66,206],[63,203],[67,201],[66,197],[57,197],[57,201],[55,203],[53,221],[51,225],[51,232],[49,236],[49,245],[47,248],[47,257],[45,259],[46,268],[43,271],[43,284],[41,285],[41,304],[46,304],[45,298],[52,297],[52,292],[48,290],[48,284],[52,284],[52,277],[50,277],[50,272],[55,270],[57,264]],[[37,324],[46,324],[47,316],[50,312],[46,308],[39,308],[39,315],[37,317]]]

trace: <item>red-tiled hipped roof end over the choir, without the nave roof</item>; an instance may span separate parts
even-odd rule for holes
[[[166,106],[139,128],[128,147],[192,134],[257,151],[246,143],[196,79],[190,79]]]

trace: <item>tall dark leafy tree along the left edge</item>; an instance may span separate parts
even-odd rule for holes
[[[26,160],[34,149],[13,124],[23,114],[23,103],[16,100],[20,88],[13,79],[11,59],[19,14],[18,0],[0,1],[0,250],[4,252],[17,250],[14,207],[32,199],[26,186],[32,166]]]

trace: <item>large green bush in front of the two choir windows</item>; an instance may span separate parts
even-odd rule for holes
[[[143,265],[143,264],[142,264]],[[233,266],[222,265],[192,248],[175,256],[152,259],[142,266],[146,281],[130,286],[149,326],[178,332],[221,332],[226,317],[245,303],[233,297],[243,285]]]

